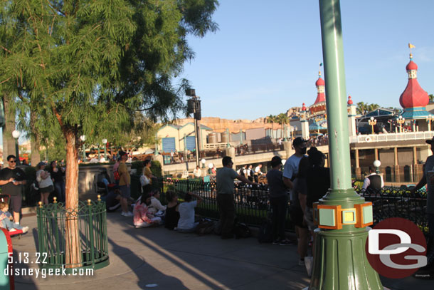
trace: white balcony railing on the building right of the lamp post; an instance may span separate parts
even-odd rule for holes
[[[349,143],[369,143],[369,142],[393,142],[405,140],[423,140],[431,139],[434,132],[408,132],[408,133],[387,133],[387,134],[369,134],[350,136]]]

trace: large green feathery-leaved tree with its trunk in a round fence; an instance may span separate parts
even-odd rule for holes
[[[3,1],[0,11],[1,90],[20,119],[49,142],[66,144],[67,209],[78,207],[78,148],[115,140],[134,123],[134,110],[168,120],[184,108],[172,85],[194,56],[186,36],[216,31],[216,0]],[[96,142],[95,142],[96,141]],[[80,266],[76,212],[66,228],[65,263]]]

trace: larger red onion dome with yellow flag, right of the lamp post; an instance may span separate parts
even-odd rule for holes
[[[410,53],[410,62],[406,66],[406,70],[408,73],[408,83],[399,98],[399,103],[404,109],[402,117],[406,118],[406,120],[425,119],[428,115],[431,115],[425,108],[430,99],[428,93],[418,83],[418,66],[413,62],[412,53]]]

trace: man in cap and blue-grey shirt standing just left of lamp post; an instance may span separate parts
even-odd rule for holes
[[[292,147],[294,147],[295,153],[285,162],[285,167],[283,170],[283,182],[285,182],[285,185],[290,188],[290,213],[294,220],[295,232],[299,239],[297,244],[297,252],[300,255],[300,260],[298,264],[302,266],[305,264],[305,257],[307,255],[307,239],[309,237],[309,232],[307,231],[306,224],[304,224],[303,211],[300,206],[298,194],[295,192],[295,190],[293,190],[293,182],[298,174],[300,160],[302,160],[302,157],[304,157],[306,154],[306,140],[303,140],[301,137],[297,137],[294,139],[294,141],[292,141]]]

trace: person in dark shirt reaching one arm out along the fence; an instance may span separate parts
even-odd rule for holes
[[[217,180],[217,204],[220,214],[221,239],[233,238],[233,224],[235,222],[235,204],[233,200],[234,183],[238,179],[249,185],[257,185],[232,169],[233,162],[229,156],[223,157],[223,168],[218,170]]]

